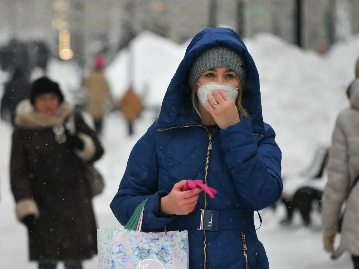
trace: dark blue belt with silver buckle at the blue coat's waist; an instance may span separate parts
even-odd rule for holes
[[[258,213],[259,215],[259,213]],[[260,217],[261,223],[262,219]],[[177,216],[167,225],[167,230],[196,229],[220,231],[230,229],[254,229],[253,211],[246,209],[208,210],[199,209],[188,215]]]

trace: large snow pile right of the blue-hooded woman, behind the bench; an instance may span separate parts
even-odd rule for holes
[[[277,133],[283,171],[301,170],[319,145],[330,144],[337,114],[348,105],[345,86],[350,78],[337,75],[336,63],[350,74],[353,67],[270,34],[245,43],[260,74],[263,116]]]

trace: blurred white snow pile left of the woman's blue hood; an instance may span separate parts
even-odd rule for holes
[[[123,49],[105,70],[113,95],[121,97],[133,77],[137,93],[145,94],[144,88],[149,87],[144,96],[147,105],[162,104],[168,84],[184,54],[183,48],[169,39],[142,32],[131,42],[131,55]],[[134,61],[134,71],[128,68],[130,57]]]

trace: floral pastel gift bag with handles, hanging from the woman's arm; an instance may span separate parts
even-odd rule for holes
[[[145,202],[145,201],[144,201]],[[188,269],[188,232],[140,232],[144,202],[129,222],[138,220],[133,230],[103,228],[97,230],[99,269]],[[141,208],[142,207],[142,208]],[[139,211],[139,209],[141,211]],[[132,224],[136,224],[135,222]],[[136,230],[135,230],[136,229]]]

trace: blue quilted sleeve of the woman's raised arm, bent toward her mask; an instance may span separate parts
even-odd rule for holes
[[[281,151],[275,132],[266,124],[256,142],[249,119],[220,131],[225,160],[243,204],[254,211],[275,203],[283,190]]]

